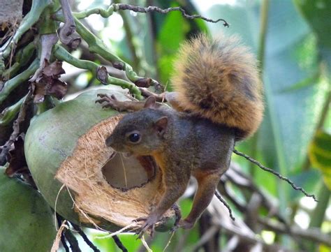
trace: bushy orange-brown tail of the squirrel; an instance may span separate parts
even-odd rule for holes
[[[257,130],[262,83],[255,57],[236,36],[200,34],[182,45],[174,67],[172,87],[180,107],[236,128],[239,139]]]

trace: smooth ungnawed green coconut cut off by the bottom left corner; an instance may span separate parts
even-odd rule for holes
[[[0,251],[50,251],[57,234],[52,209],[36,189],[4,172],[0,167]]]

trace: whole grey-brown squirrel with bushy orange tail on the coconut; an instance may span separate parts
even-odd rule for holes
[[[142,90],[146,101],[118,101],[98,94],[103,107],[126,114],[106,139],[108,147],[134,156],[152,156],[164,193],[146,218],[140,236],[178,200],[191,175],[198,181],[189,216],[177,224],[192,228],[228,170],[235,142],[252,135],[263,118],[257,61],[236,36],[212,39],[200,34],[185,42],[175,61],[174,91]],[[172,108],[156,101],[166,100]]]

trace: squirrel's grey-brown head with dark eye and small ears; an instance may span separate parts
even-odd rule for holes
[[[167,114],[146,102],[144,110],[126,114],[119,121],[105,144],[115,151],[147,156],[153,151],[161,151],[167,129]]]

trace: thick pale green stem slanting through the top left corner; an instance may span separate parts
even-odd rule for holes
[[[22,35],[26,31],[28,31],[39,20],[39,17],[41,17],[41,13],[43,13],[43,10],[45,10],[45,8],[49,6],[51,3],[52,1],[50,0],[32,1],[31,10],[23,18],[20,27],[18,27],[12,40],[10,40],[10,43],[8,43],[8,45],[3,50],[3,52],[0,52],[0,57],[2,58],[1,60],[4,60],[9,56],[13,46],[16,45],[18,40],[20,40],[20,38],[22,37]]]

